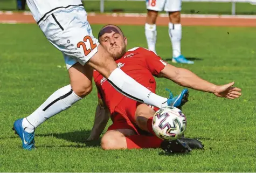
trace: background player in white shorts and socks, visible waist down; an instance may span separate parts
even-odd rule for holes
[[[172,62],[193,64],[193,61],[186,59],[181,54],[181,4],[182,0],[146,0],[147,18],[145,24],[145,34],[148,49],[156,53],[156,19],[158,12],[166,11],[169,14],[169,36],[172,45]]]

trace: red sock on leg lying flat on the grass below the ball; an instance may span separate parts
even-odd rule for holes
[[[156,136],[132,135],[126,137],[128,149],[160,148],[162,141]]]

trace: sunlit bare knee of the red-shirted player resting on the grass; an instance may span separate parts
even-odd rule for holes
[[[116,144],[118,144],[118,139],[115,133],[106,133],[101,139],[101,148],[103,150],[118,149]]]

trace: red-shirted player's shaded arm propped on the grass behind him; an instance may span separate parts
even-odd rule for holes
[[[107,122],[109,120],[109,110],[105,106],[105,103],[101,99],[98,101],[98,105],[96,107],[94,124],[91,130],[91,134],[88,137],[87,141],[98,140],[103,130],[105,129]]]

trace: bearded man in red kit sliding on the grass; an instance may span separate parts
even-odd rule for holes
[[[158,57],[154,52],[142,47],[134,47],[126,51],[127,38],[121,29],[115,25],[106,25],[100,32],[100,44],[112,54],[114,60],[124,72],[137,82],[155,93],[155,77],[163,77],[185,87],[199,91],[211,92],[216,96],[235,99],[241,95],[241,89],[230,84],[217,86],[199,78],[196,74],[184,68],[176,68]],[[93,74],[95,85],[98,89],[99,104],[96,108],[94,126],[87,140],[99,139],[106,127],[109,116],[113,124],[108,128],[101,140],[103,149],[134,149],[158,148],[167,149],[170,144],[163,142],[154,135],[152,129],[153,116],[158,110],[156,107],[129,99],[115,91],[109,82],[97,71]],[[184,89],[183,99],[177,100],[175,107],[180,108],[188,101],[187,89]],[[178,95],[178,97],[182,94]],[[203,148],[197,140],[180,139],[191,148]],[[179,147],[178,147],[179,146]],[[179,144],[170,150],[184,151],[184,146]]]

